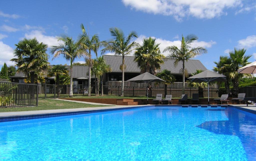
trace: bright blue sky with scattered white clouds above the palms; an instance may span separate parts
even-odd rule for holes
[[[12,64],[9,60],[19,40],[36,37],[49,46],[57,45],[60,34],[77,39],[81,23],[100,40],[111,38],[110,27],[119,27],[126,34],[135,30],[139,36],[135,41],[155,37],[161,50],[178,46],[182,34],[193,33],[199,37],[194,45],[208,49],[195,59],[208,69],[234,47],[246,48],[253,55],[250,61],[256,60],[256,1],[0,1],[0,67],[4,62]],[[61,57],[49,61],[69,63]]]

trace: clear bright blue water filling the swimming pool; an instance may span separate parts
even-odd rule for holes
[[[144,108],[0,123],[0,160],[255,160],[256,115]]]

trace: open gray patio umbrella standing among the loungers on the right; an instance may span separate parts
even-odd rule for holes
[[[226,76],[223,76],[222,74],[216,73],[211,70],[206,70],[192,77],[189,77],[188,79],[191,80],[192,82],[208,82],[208,104],[209,104],[209,82],[225,81]]]

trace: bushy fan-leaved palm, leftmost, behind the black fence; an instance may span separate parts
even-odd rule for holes
[[[30,77],[31,83],[37,82],[36,75],[42,75],[47,72],[49,67],[48,54],[46,53],[48,45],[39,43],[36,38],[19,41],[15,44],[14,57],[11,61],[18,67],[17,72],[23,72]]]

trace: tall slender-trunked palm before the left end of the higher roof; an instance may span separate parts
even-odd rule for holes
[[[130,54],[134,50],[134,48],[138,46],[138,43],[135,41],[130,43],[130,41],[133,38],[137,38],[138,36],[135,31],[131,31],[128,34],[128,36],[125,37],[123,31],[116,27],[110,28],[109,31],[113,39],[105,44],[105,48],[102,49],[102,53],[110,51],[115,53],[115,55],[122,55],[122,65],[120,65],[120,69],[122,70],[121,96],[124,96],[124,69],[125,69],[124,57]]]

